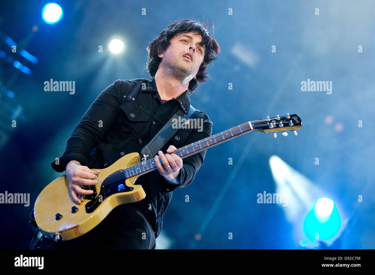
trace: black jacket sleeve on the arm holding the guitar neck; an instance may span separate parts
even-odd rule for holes
[[[211,122],[210,118],[207,116],[207,114],[203,113],[203,131],[199,132],[198,129],[194,129],[194,131],[189,135],[187,138],[186,142],[181,145],[180,147],[183,147],[185,145],[189,145],[191,143],[194,143],[198,140],[202,140],[204,138],[210,137],[212,134],[212,125],[213,123]],[[200,116],[202,118],[202,116]],[[165,180],[165,178],[162,179],[163,185],[165,188],[165,192],[171,192],[175,188],[183,188],[190,183],[193,182],[195,178],[196,172],[198,172],[199,168],[202,166],[205,155],[206,155],[207,149],[202,150],[201,152],[198,152],[192,156],[189,156],[187,158],[182,159],[183,166],[180,169],[180,174],[179,174],[179,184],[173,184],[169,183],[168,181]],[[169,189],[169,190],[168,190]]]

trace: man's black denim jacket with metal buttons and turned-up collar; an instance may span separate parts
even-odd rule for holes
[[[140,82],[142,86],[136,98],[129,98],[127,95],[138,87]],[[186,113],[189,111],[190,99],[187,90],[178,98],[172,98],[162,104],[154,79],[116,80],[91,104],[68,139],[63,156],[51,163],[52,168],[63,172],[69,161],[76,160],[89,168],[103,169],[123,155],[140,153],[178,108]],[[191,118],[203,120],[202,131],[178,129],[160,149],[163,153],[166,153],[169,145],[178,149],[211,136],[213,123],[206,113],[196,110]],[[146,192],[146,198],[141,201],[141,205],[152,205],[152,212],[149,213],[152,213],[155,238],[162,229],[163,214],[171,201],[172,191],[192,183],[203,164],[206,151],[183,159],[178,185],[168,183],[157,169],[141,175],[135,181],[135,184],[141,184]]]

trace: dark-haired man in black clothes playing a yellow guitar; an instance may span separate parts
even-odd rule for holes
[[[102,169],[123,155],[140,153],[178,109],[189,112],[188,95],[208,79],[205,70],[220,48],[200,22],[185,19],[165,28],[147,51],[147,70],[153,79],[142,83],[136,98],[129,98],[128,92],[141,79],[117,80],[105,89],[72,132],[58,164],[52,162],[56,171],[66,170],[77,204],[79,195],[93,193],[80,186],[97,183],[99,171],[89,168]],[[204,150],[182,161],[172,152],[212,133],[206,113],[196,110],[191,118],[200,119],[202,129],[178,129],[154,157],[157,170],[136,180],[145,190],[144,199],[119,205],[78,238],[57,243],[43,238],[40,248],[155,248],[172,191],[192,183],[206,154]]]

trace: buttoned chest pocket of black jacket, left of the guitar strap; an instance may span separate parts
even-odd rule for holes
[[[121,127],[122,138],[139,136],[148,120],[150,120],[150,113],[137,108],[132,100],[123,100],[120,108],[122,110],[122,123],[124,124]]]

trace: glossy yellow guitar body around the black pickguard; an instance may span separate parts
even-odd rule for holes
[[[98,195],[94,200],[100,201],[100,190],[104,179],[114,172],[129,168],[130,166],[141,163],[139,153],[130,153],[120,159],[114,164],[105,169],[91,169],[92,171],[100,171],[99,183],[95,185]],[[107,198],[100,201],[98,207],[92,213],[87,213],[86,205],[92,200],[85,198],[81,199],[81,204],[77,204],[69,191],[69,183],[65,175],[56,178],[48,184],[39,194],[34,205],[34,217],[37,226],[49,239],[53,239],[56,235],[62,237],[63,240],[77,238],[95,226],[97,226],[105,217],[118,205],[137,202],[145,198],[141,185],[134,185],[135,180],[140,175],[127,178],[123,181],[123,185],[132,189],[128,192],[114,193]],[[78,211],[72,213],[72,207],[77,207]],[[76,209],[75,209],[76,210]],[[56,218],[56,214],[61,219]]]

